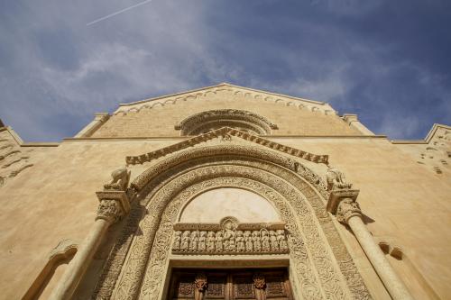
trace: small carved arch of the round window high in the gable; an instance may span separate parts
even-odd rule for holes
[[[244,110],[219,109],[193,114],[177,125],[181,135],[198,135],[221,127],[231,127],[254,134],[268,135],[277,125],[260,114]]]

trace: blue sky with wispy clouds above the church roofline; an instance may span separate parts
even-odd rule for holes
[[[29,0],[0,3],[0,118],[73,136],[119,103],[230,82],[422,139],[451,124],[451,2]]]

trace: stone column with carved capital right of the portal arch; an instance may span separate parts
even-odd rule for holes
[[[327,210],[336,214],[338,222],[347,224],[351,228],[391,297],[394,300],[413,299],[362,221],[362,211],[355,202],[357,195],[358,190],[332,191],[327,203]]]

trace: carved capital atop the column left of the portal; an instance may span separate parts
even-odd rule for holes
[[[100,202],[96,220],[104,219],[115,223],[130,211],[130,203],[124,191],[102,191],[96,194]]]

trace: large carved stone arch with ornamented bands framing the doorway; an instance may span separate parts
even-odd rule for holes
[[[286,219],[294,220],[289,224],[295,236],[290,240],[290,250],[291,255],[298,256],[295,276],[304,298],[370,298],[326,212],[321,195],[327,195],[327,191],[320,187],[320,178],[292,159],[260,149],[255,150],[258,156],[249,155],[253,150],[225,145],[181,151],[136,178],[133,189],[146,209],[141,205],[133,208],[120,238],[124,242],[112,250],[95,296],[109,298],[115,289],[115,299],[133,298],[140,291],[146,298],[158,298],[155,290],[161,291],[172,226],[182,202],[192,195],[192,186],[230,178],[235,186],[248,184],[254,191],[263,186],[266,192],[262,195],[277,202]],[[318,186],[322,188],[319,193]]]

